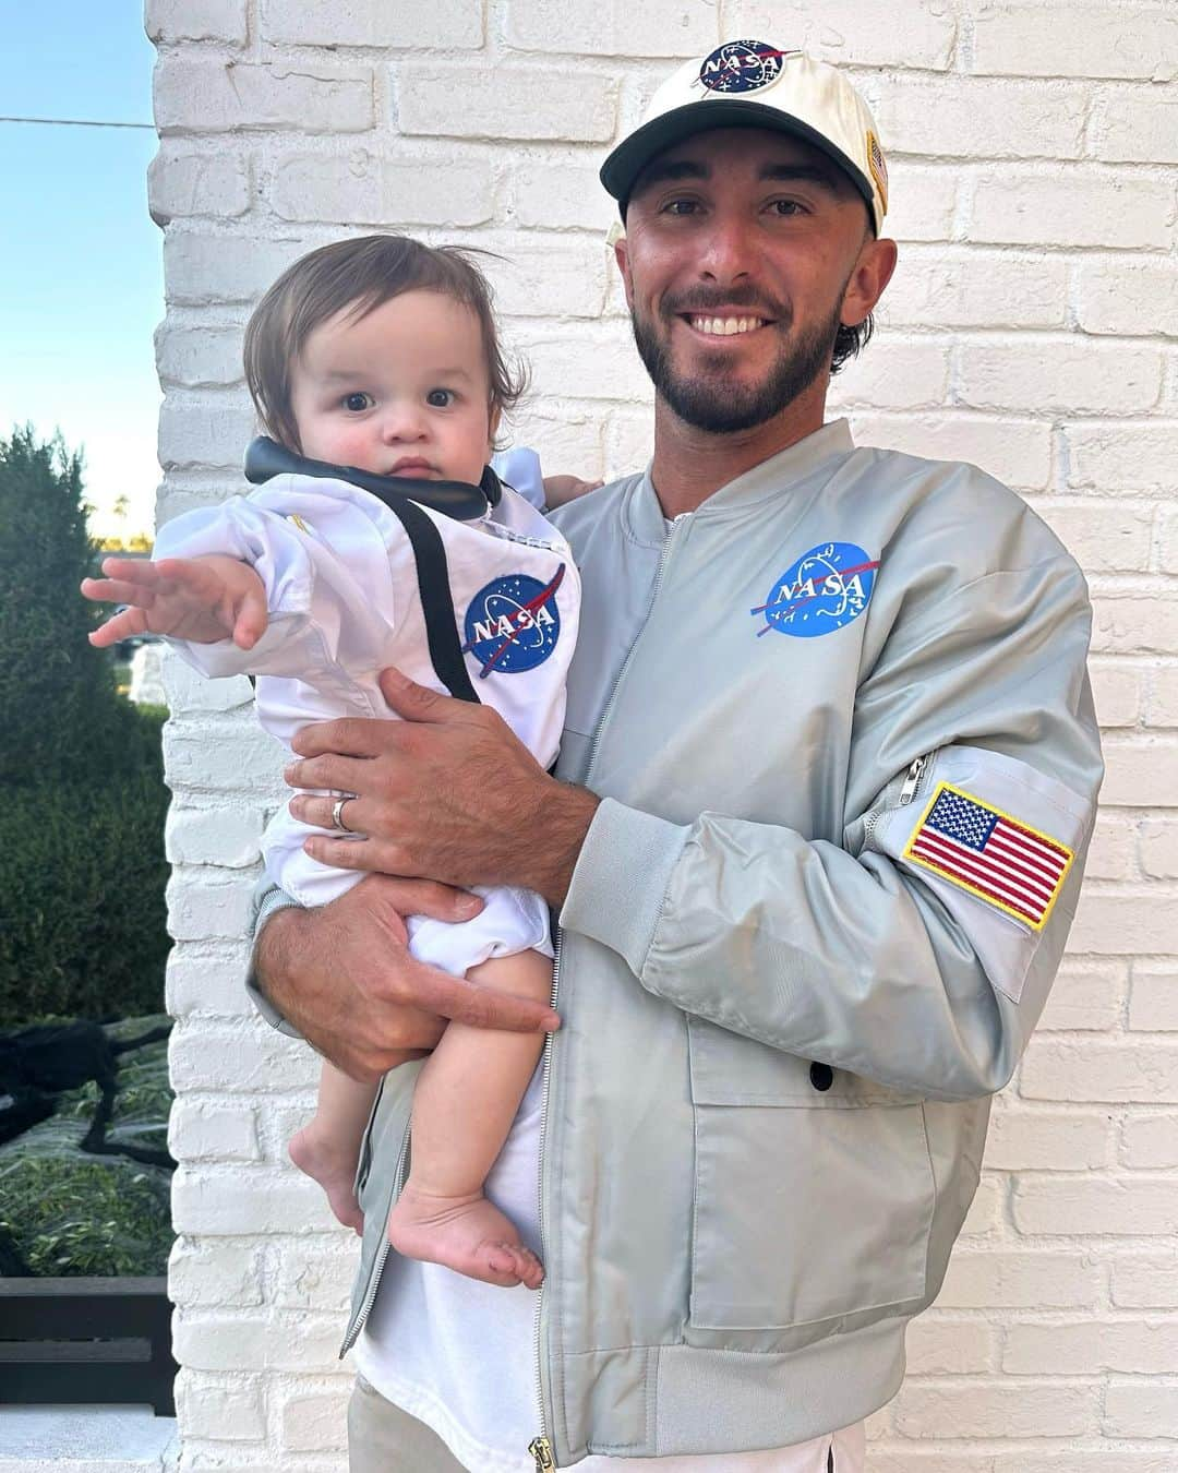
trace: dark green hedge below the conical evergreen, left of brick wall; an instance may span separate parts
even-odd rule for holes
[[[119,766],[130,775],[16,787],[0,801],[0,1027],[161,1008],[162,716],[134,707],[127,716]]]

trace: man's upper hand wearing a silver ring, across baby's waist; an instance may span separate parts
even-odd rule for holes
[[[561,904],[598,798],[549,778],[507,722],[384,670],[399,722],[345,719],[305,726],[292,788],[353,792],[343,822],[367,843],[315,835],[305,848],[340,869],[521,885]],[[331,828],[331,797],[302,794],[294,818]]]

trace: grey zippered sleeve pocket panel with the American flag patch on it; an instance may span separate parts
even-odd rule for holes
[[[1091,822],[1091,806],[1059,779],[1001,753],[951,745],[875,813],[869,847],[935,891],[991,984],[1017,1002]]]

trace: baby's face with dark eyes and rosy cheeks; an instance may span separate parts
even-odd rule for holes
[[[440,292],[337,312],[303,343],[292,408],[312,460],[477,485],[498,418],[479,318]]]

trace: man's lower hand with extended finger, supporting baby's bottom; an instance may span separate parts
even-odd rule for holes
[[[480,909],[477,896],[446,885],[370,875],[321,909],[271,916],[258,937],[258,981],[320,1053],[365,1083],[428,1053],[448,1018],[512,1033],[557,1028],[540,1003],[409,956],[402,915],[470,921]]]

